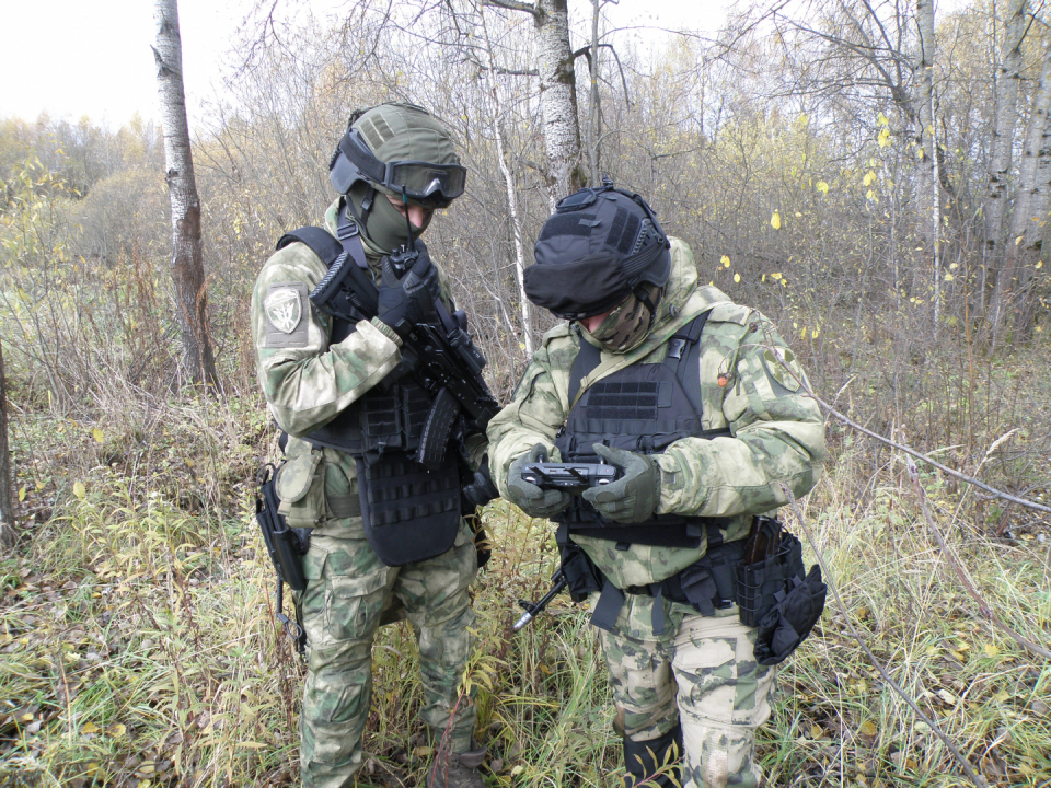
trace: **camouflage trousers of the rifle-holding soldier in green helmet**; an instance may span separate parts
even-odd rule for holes
[[[454,753],[470,750],[474,733],[474,705],[458,692],[474,645],[467,588],[477,558],[470,529],[461,522],[451,549],[402,567],[384,565],[358,533],[359,538],[314,535],[303,560],[309,673],[299,730],[304,788],[355,784],[372,696],[372,640],[392,606],[404,610],[416,634],[424,722],[436,734],[448,734]]]

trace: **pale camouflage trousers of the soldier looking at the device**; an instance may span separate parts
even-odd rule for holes
[[[706,617],[665,602],[669,626],[657,638],[652,598],[627,600],[614,633],[599,633],[623,734],[648,741],[681,722],[683,788],[760,785],[752,751],[775,669],[755,662],[757,630],[736,606]]]

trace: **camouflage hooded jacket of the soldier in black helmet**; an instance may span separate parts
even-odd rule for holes
[[[690,247],[671,239],[672,273],[654,328],[626,354],[601,354],[580,391],[632,363],[659,363],[675,331],[707,311],[701,335],[702,428],[729,429],[730,437],[684,438],[655,455],[661,468],[658,513],[731,518],[726,541],[743,538],[751,515],[786,502],[779,483],[806,495],[821,475],[824,421],[817,404],[800,393],[771,347],[777,348],[801,381],[806,375],[773,324],[755,310],[732,303],[715,287],[697,287]],[[535,443],[553,459],[555,434],[565,424],[569,373],[581,341],[590,337],[576,323],[544,335],[511,403],[489,424],[489,467],[507,493],[510,464]],[[721,384],[720,384],[721,380]],[[807,383],[809,386],[809,383]],[[659,582],[704,555],[696,548],[632,545],[575,536],[599,568],[620,588]]]

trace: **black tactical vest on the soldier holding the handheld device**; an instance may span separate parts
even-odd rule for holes
[[[668,355],[660,363],[633,363],[590,385],[555,438],[563,462],[599,462],[594,443],[655,454],[682,438],[730,434],[728,429],[701,426],[698,339],[707,317],[704,312],[683,325],[668,340]],[[570,397],[599,360],[599,349],[581,339],[569,374]],[[655,514],[643,523],[623,524],[602,517],[578,496],[557,520],[568,528],[569,536],[666,547],[697,547],[708,526],[729,523],[723,518]]]

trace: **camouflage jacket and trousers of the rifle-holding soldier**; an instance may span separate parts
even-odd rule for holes
[[[332,233],[336,210],[333,205],[325,216]],[[368,243],[366,255],[377,277],[380,257]],[[251,315],[259,382],[272,415],[290,434],[277,478],[280,511],[290,526],[314,529],[304,558],[308,586],[299,600],[309,645],[300,717],[308,788],[354,785],[369,711],[371,646],[382,623],[405,617],[413,626],[425,696],[420,717],[438,735],[449,727],[452,752],[470,749],[475,719],[473,703],[458,693],[473,645],[467,588],[477,564],[470,529],[461,521],[453,547],[437,558],[396,569],[383,565],[365,537],[354,457],[300,439],[401,360],[397,335],[379,321],[362,321],[330,345],[331,321],[307,298],[325,270],[304,244],[275,253],[256,279]],[[439,280],[452,311],[440,270]],[[485,448],[484,436],[467,447],[475,461]]]

